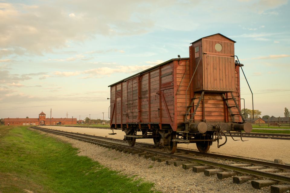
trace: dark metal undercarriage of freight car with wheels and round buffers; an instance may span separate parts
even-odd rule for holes
[[[252,125],[247,122],[239,123],[186,123],[184,131],[173,131],[171,128],[154,128],[157,125],[150,125],[152,128],[139,128],[139,124],[130,124],[130,128],[125,128],[124,140],[128,141],[130,146],[134,146],[136,139],[153,139],[154,145],[164,146],[167,153],[175,153],[179,143],[195,143],[198,151],[206,153],[213,142],[217,141],[218,148],[226,144],[227,136],[225,132],[240,132],[242,140],[242,130],[246,133],[252,131]],[[169,126],[170,127],[170,126]],[[139,134],[138,134],[139,133]],[[225,141],[220,144],[220,140]]]

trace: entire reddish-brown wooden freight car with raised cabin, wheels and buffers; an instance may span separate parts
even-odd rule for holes
[[[189,46],[189,58],[171,59],[111,84],[111,129],[124,140],[153,138],[174,153],[178,143],[207,152],[225,131],[250,132],[240,109],[240,68],[234,40],[218,33]],[[221,144],[223,145],[223,144]],[[220,147],[218,143],[218,147]]]

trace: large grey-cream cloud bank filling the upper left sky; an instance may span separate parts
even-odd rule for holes
[[[154,7],[155,2],[114,2],[118,9],[113,12],[111,3],[93,0],[35,5],[1,2],[0,48],[6,50],[0,51],[0,57],[24,53],[42,55],[67,47],[70,41],[94,38],[96,34],[136,35],[147,33],[154,27],[154,20],[147,15],[148,9],[140,5]]]

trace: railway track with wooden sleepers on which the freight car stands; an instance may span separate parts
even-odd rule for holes
[[[151,158],[166,164],[182,165],[184,169],[192,169],[193,172],[204,172],[207,176],[217,175],[219,179],[233,177],[234,183],[243,183],[257,176],[260,180],[252,180],[254,188],[271,186],[271,192],[275,188],[281,190],[290,189],[290,166],[272,162],[250,160],[240,157],[224,156],[212,153],[200,153],[192,150],[177,149],[175,154],[168,154],[164,148],[153,144],[136,143],[134,147],[128,146],[126,141],[79,134],[66,131],[58,131],[40,127],[31,127],[40,131],[63,135],[80,141],[104,146],[107,148],[123,151],[124,153],[138,154],[145,158]],[[243,174],[243,175],[241,175]],[[246,174],[246,176],[244,176]],[[279,183],[279,185],[275,185]],[[281,184],[286,183],[286,184]],[[284,189],[281,189],[284,188]]]

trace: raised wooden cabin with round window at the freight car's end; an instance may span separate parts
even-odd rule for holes
[[[215,48],[216,44],[221,45],[220,51]],[[194,91],[234,92],[234,42],[217,34],[201,39],[192,46],[193,68],[197,67]]]

